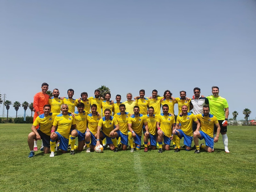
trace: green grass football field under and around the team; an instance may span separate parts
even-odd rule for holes
[[[214,153],[41,151],[28,158],[30,124],[0,124],[0,191],[256,191],[256,126],[229,126]],[[41,141],[38,141],[38,146]]]

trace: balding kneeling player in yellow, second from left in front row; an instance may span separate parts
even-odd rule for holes
[[[68,105],[62,104],[62,114],[57,115],[53,121],[50,134],[50,157],[54,157],[54,146],[56,140],[60,140],[59,148],[61,149],[62,153],[67,153],[70,129],[75,129],[76,127],[75,118],[68,113],[68,110]],[[57,126],[58,130],[56,131]]]

